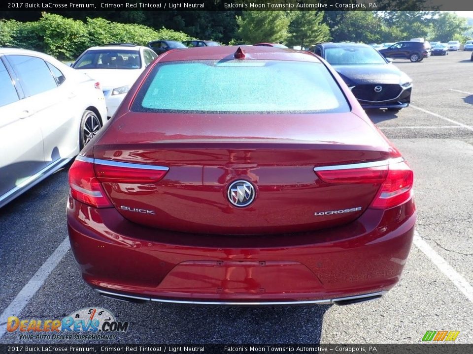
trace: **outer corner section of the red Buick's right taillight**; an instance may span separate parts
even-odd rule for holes
[[[381,184],[371,207],[388,209],[405,203],[412,196],[413,182],[414,174],[404,161],[389,164],[388,176]]]

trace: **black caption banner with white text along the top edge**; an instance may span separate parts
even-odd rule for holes
[[[8,11],[209,11],[209,10],[473,10],[469,0],[19,0],[0,3]]]

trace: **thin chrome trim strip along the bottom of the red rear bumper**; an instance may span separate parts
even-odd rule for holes
[[[231,301],[192,301],[192,300],[172,300],[172,299],[157,299],[157,298],[150,298],[150,297],[140,297],[140,296],[132,296],[132,295],[123,295],[113,292],[108,292],[104,290],[94,289],[95,292],[104,295],[113,295],[118,297],[130,298],[135,300],[144,300],[144,301],[155,301],[155,302],[165,302],[165,303],[177,303],[177,304],[190,304],[190,305],[252,305],[252,306],[261,306],[261,305],[306,305],[306,304],[332,304],[338,301],[345,301],[345,300],[354,300],[354,299],[362,299],[366,297],[372,296],[382,296],[386,294],[385,291],[371,293],[371,294],[363,294],[363,295],[354,295],[354,296],[347,296],[347,297],[338,297],[334,299],[323,299],[323,300],[307,300],[307,301],[261,301],[261,302],[231,302]]]

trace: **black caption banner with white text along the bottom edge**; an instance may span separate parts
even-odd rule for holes
[[[473,344],[0,344],[0,353],[466,354]]]

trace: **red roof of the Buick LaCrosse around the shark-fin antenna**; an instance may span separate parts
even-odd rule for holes
[[[245,59],[260,60],[291,60],[291,61],[313,61],[320,60],[312,53],[298,50],[288,50],[276,47],[263,46],[218,46],[218,47],[195,47],[186,50],[170,50],[159,58],[163,61],[181,60],[220,60],[235,59],[235,52],[240,48],[245,54]]]

